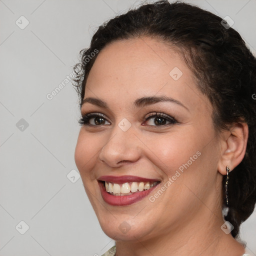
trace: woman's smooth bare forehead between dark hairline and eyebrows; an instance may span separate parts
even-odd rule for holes
[[[158,94],[196,106],[204,97],[174,48],[149,37],[114,41],[98,53],[85,86],[85,96],[95,94],[118,104]]]

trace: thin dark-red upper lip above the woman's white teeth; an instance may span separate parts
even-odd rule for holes
[[[103,175],[103,176],[100,176],[97,180],[107,181],[112,183],[160,181],[159,179],[144,178],[144,177],[131,176],[131,175],[123,175],[123,176]]]

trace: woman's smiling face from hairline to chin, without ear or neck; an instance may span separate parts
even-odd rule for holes
[[[212,106],[174,50],[148,37],[108,44],[84,99],[81,113],[90,115],[75,162],[109,237],[142,241],[220,212]]]

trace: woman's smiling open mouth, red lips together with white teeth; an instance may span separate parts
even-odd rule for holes
[[[137,176],[101,176],[98,179],[103,200],[110,205],[129,205],[148,195],[160,180]]]

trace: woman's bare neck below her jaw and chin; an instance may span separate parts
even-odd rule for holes
[[[222,213],[211,212],[207,207],[197,216],[184,220],[182,227],[171,227],[158,236],[132,241],[116,241],[116,256],[241,256],[244,247],[231,234],[225,234],[220,226],[223,224]],[[204,217],[202,217],[204,216]],[[191,220],[192,219],[192,220]]]

